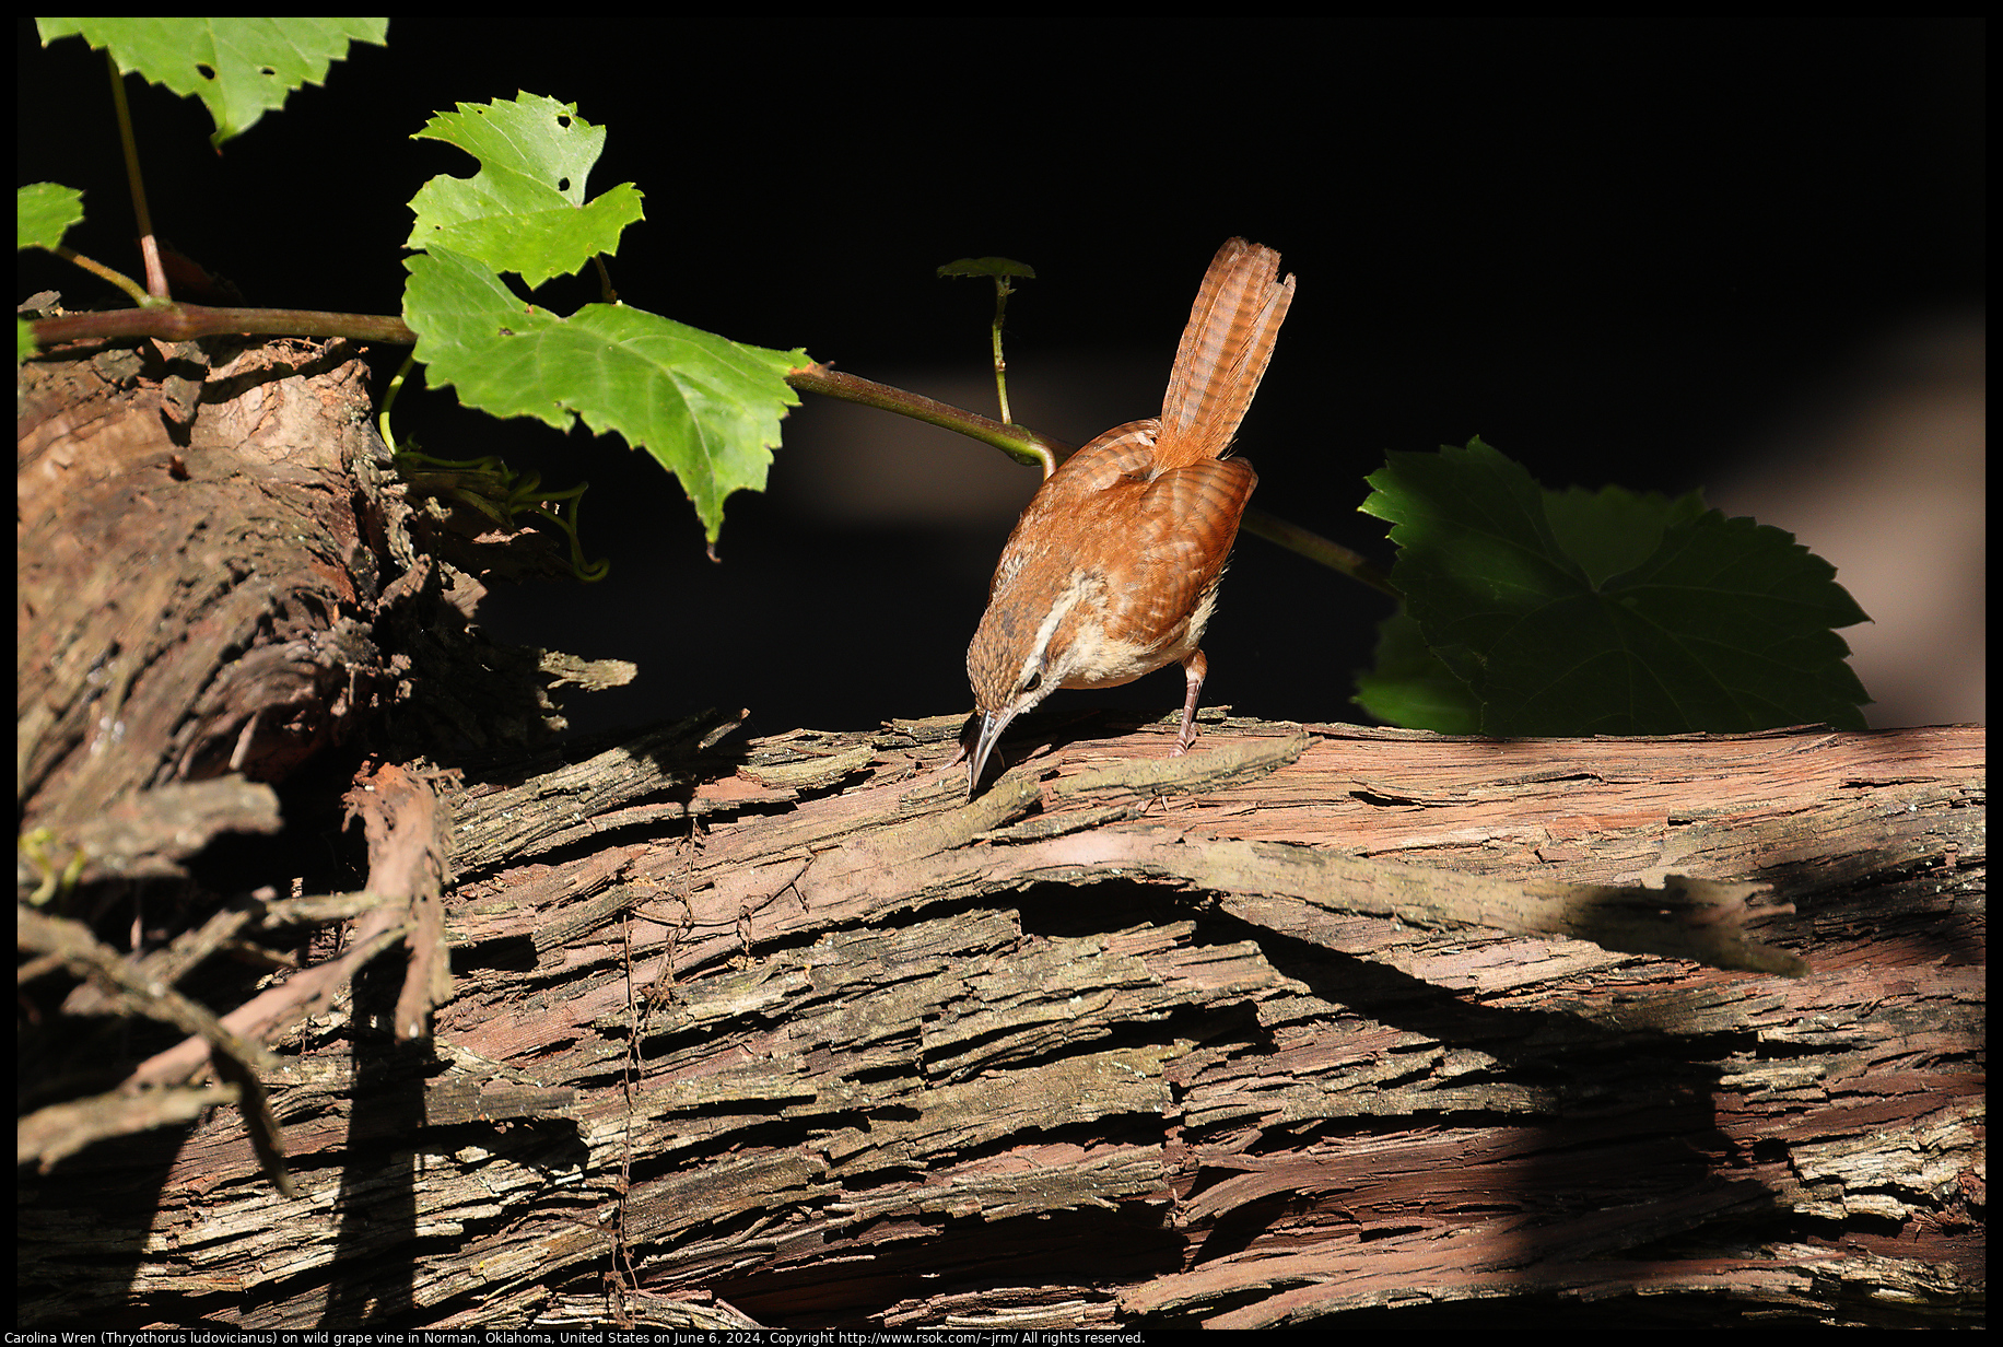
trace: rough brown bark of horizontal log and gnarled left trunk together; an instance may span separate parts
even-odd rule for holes
[[[339,353],[258,369],[180,441],[144,363],[24,401],[24,521],[128,505],[22,533],[24,1327],[1981,1313],[1979,730],[1042,716],[975,802],[959,718],[477,758],[561,661],[449,621]],[[164,447],[96,457],[120,399]],[[188,878],[365,714],[365,892]]]

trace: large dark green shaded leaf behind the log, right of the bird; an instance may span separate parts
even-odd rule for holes
[[[1865,728],[1835,627],[1867,617],[1791,533],[1695,495],[1546,493],[1480,441],[1394,453],[1370,485],[1362,509],[1396,525],[1392,583],[1482,734]],[[1442,702],[1436,669],[1390,655],[1372,710]]]

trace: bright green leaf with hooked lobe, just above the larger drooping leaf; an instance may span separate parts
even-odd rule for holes
[[[621,182],[585,200],[585,178],[605,148],[605,128],[573,104],[537,94],[515,102],[459,104],[425,122],[413,140],[445,140],[481,160],[471,178],[437,176],[411,200],[411,249],[441,247],[513,271],[531,287],[615,253],[641,218],[641,194]]]

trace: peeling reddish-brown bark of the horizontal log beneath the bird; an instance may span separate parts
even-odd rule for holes
[[[435,1044],[322,1026],[272,1078],[302,1199],[214,1114],[160,1159],[154,1253],[116,1295],[220,1317],[176,1287],[226,1281],[244,1327],[1979,1313],[1979,732],[1230,724],[1168,764],[1166,728],[1088,724],[963,804],[957,724],[731,748],[701,722],[471,782],[455,836],[489,860],[449,902]],[[1178,770],[1206,784],[1140,804]],[[519,802],[559,790],[603,828],[525,840]],[[1246,846],[1757,880],[1795,906],[1761,936],[1813,972],[1190,878]],[[381,1189],[397,1219],[341,1217]]]

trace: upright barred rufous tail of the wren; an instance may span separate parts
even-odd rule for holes
[[[1224,455],[1266,377],[1292,301],[1294,277],[1280,281],[1278,253],[1244,239],[1218,249],[1168,375],[1158,471]]]

